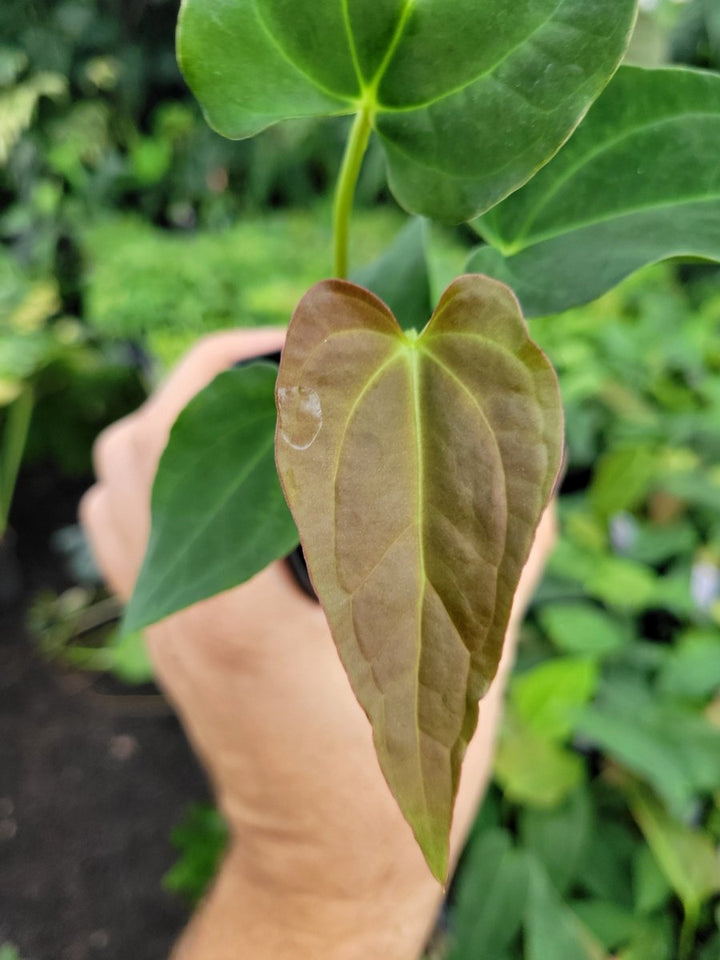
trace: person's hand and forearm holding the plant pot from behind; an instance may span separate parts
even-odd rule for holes
[[[96,446],[99,482],[81,517],[127,599],[150,529],[152,482],[170,428],[238,360],[279,349],[279,330],[202,340],[164,387]],[[554,541],[538,530],[503,661],[480,709],[452,833],[456,858],[489,776],[515,625]],[[177,960],[416,960],[442,890],[380,772],[368,720],[320,606],[274,563],[248,583],[147,631],[159,683],[204,762],[231,830],[215,887]]]

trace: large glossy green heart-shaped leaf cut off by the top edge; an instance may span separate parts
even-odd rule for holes
[[[463,220],[567,139],[634,13],[635,0],[184,0],[178,59],[223,135],[363,113],[399,202]]]

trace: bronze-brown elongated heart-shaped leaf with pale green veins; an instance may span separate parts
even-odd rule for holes
[[[454,281],[418,337],[345,281],[300,302],[277,463],[383,772],[436,876],[477,701],[562,448],[555,375],[517,301]]]

